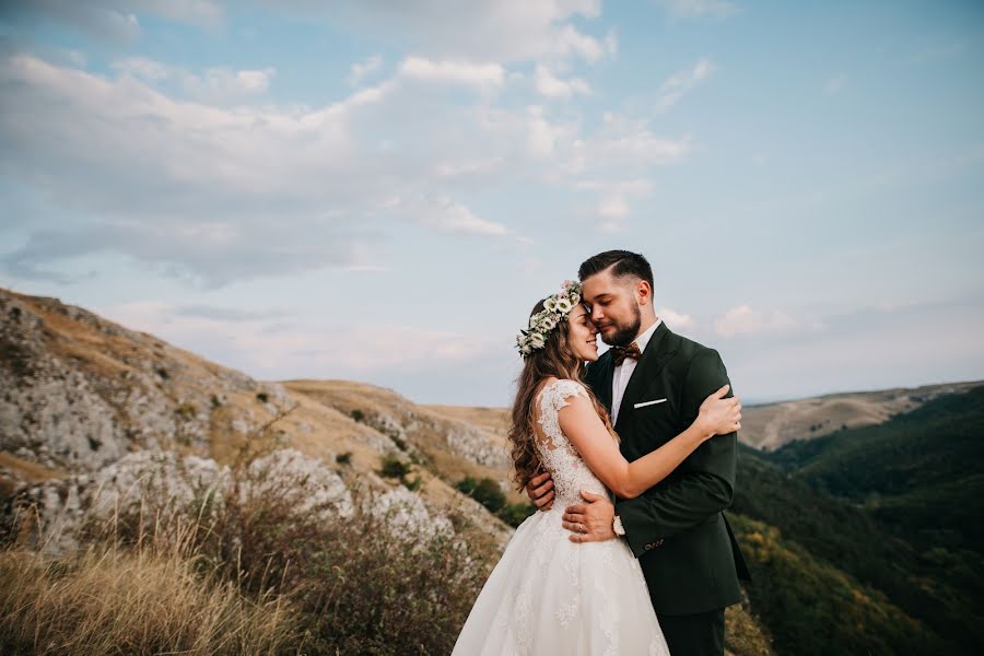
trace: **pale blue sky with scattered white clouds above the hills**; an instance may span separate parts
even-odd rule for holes
[[[984,3],[0,2],[0,286],[508,405],[610,248],[764,402],[984,378]]]

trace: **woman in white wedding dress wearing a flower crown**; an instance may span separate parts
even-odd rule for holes
[[[597,330],[581,304],[581,285],[534,307],[517,338],[525,360],[509,430],[516,482],[549,471],[557,502],[527,518],[479,594],[454,655],[648,654],[669,649],[642,570],[624,540],[575,543],[563,528],[565,505],[582,491],[631,499],[666,478],[704,441],[740,420],[737,397],[722,387],[686,431],[628,462],[608,413],[582,383],[598,360]]]

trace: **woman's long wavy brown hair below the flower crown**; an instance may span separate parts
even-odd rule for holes
[[[529,316],[532,317],[543,309],[547,298],[537,303]],[[567,315],[570,316],[570,315]],[[513,401],[512,425],[508,440],[512,445],[513,477],[517,490],[522,491],[531,478],[542,472],[540,456],[537,453],[536,432],[536,397],[540,385],[549,377],[570,378],[584,382],[584,362],[578,359],[574,350],[567,343],[567,317],[558,321],[557,326],[547,335],[542,349],[535,349],[523,364],[523,371],[516,380],[516,399]],[[618,440],[608,411],[605,409],[594,393],[585,385],[588,396],[598,412],[598,417],[605,423],[605,427]]]

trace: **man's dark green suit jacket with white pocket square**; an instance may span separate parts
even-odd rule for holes
[[[609,411],[613,375],[610,352],[587,368],[588,384]],[[631,462],[672,440],[696,419],[704,399],[728,383],[717,351],[660,323],[619,408],[614,429],[622,455]],[[666,400],[635,408],[659,399]],[[658,614],[692,614],[739,601],[738,577],[749,578],[748,567],[722,513],[735,493],[737,452],[737,433],[716,435],[658,484],[616,503]]]

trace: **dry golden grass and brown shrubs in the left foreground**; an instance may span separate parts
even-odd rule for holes
[[[329,519],[298,515],[305,492],[289,482],[241,492],[189,507],[148,499],[60,557],[14,536],[0,550],[0,654],[450,651],[487,571],[460,537],[395,532],[358,509],[364,491],[353,516]],[[468,520],[455,518],[459,536]]]

